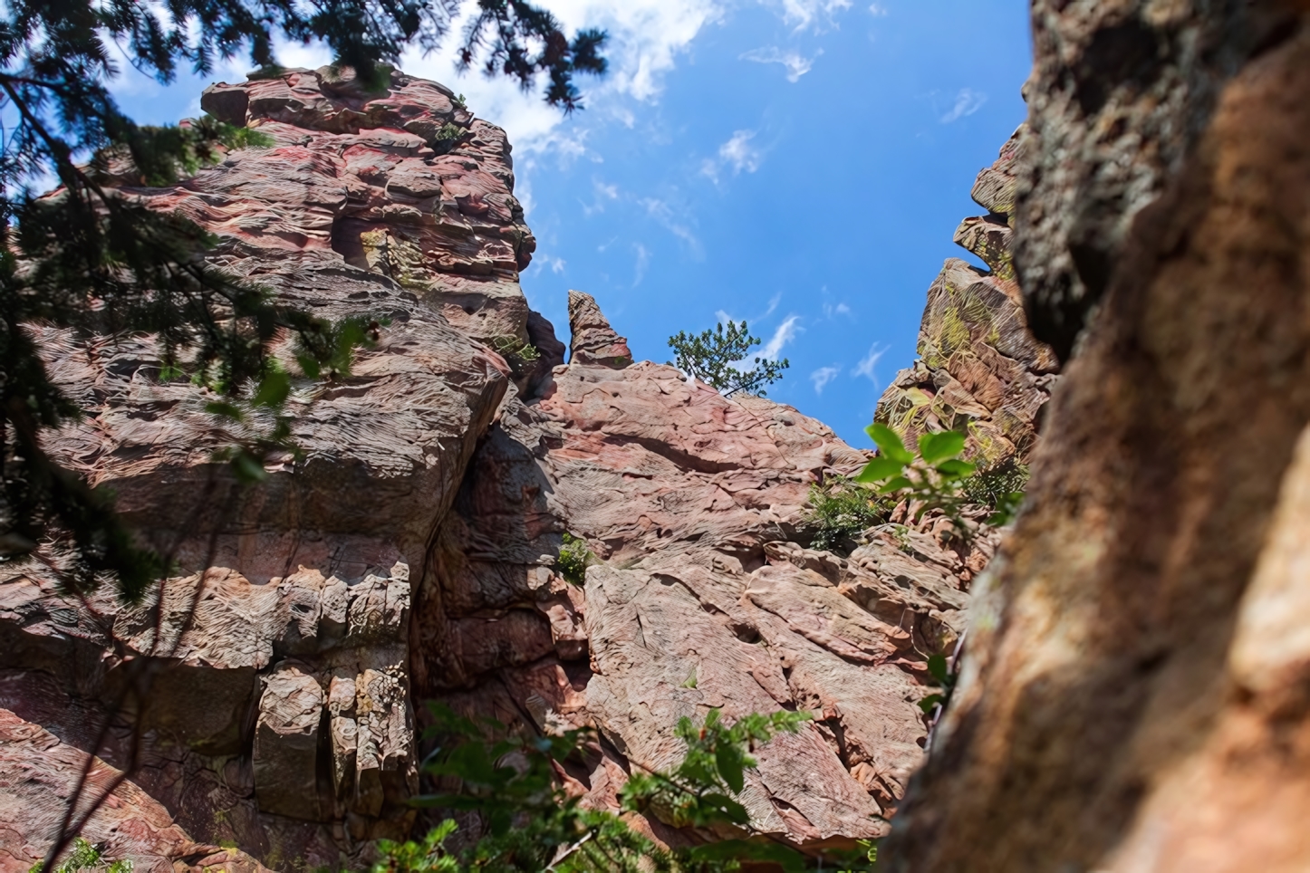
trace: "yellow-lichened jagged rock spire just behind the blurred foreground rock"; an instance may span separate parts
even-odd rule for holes
[[[988,466],[1028,457],[1058,380],[1055,352],[1028,332],[1014,279],[1014,196],[1027,143],[1020,127],[979,173],[973,199],[988,215],[964,219],[955,232],[990,271],[947,259],[927,289],[918,360],[896,374],[874,416],[907,445],[926,431],[965,431],[968,457]]]

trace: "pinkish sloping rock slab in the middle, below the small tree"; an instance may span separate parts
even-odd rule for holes
[[[723,398],[671,366],[557,368],[540,398],[506,404],[443,527],[417,594],[421,696],[521,724],[500,696],[458,690],[494,686],[593,725],[612,763],[587,797],[603,806],[613,774],[676,762],[684,715],[806,709],[816,721],[800,736],[758,750],[756,827],[808,847],[882,834],[871,815],[895,809],[922,755],[922,653],[955,641],[967,596],[958,556],[925,564],[891,537],[859,560],[804,548],[811,484],[866,459],[790,407]],[[580,602],[552,572],[565,530],[597,560]],[[582,613],[584,670],[558,649],[575,620],[562,589]],[[557,650],[477,674],[449,618],[525,602]],[[569,682],[534,679],[548,664]]]

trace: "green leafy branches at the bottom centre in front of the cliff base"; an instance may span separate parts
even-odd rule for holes
[[[701,724],[680,720],[685,758],[671,771],[634,767],[620,793],[620,811],[677,826],[731,827],[741,839],[663,849],[620,815],[584,809],[558,787],[557,770],[580,762],[588,732],[511,736],[490,719],[473,721],[444,705],[431,711],[435,726],[428,738],[439,738],[439,746],[424,770],[457,788],[419,797],[417,804],[476,811],[481,832],[465,848],[452,849],[447,843],[456,825],[447,819],[421,840],[383,840],[373,873],[719,873],[739,870],[743,861],[772,861],[789,872],[811,869],[810,859],[795,849],[755,834],[736,800],[756,764],[751,751],[778,733],[799,730],[807,713],[752,713],[730,725],[711,709]],[[823,869],[871,869],[872,851],[863,846],[853,857],[829,856]]]

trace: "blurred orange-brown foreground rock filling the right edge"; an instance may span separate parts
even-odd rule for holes
[[[1150,16],[1205,41],[1115,55],[1136,58],[1127,80],[1090,51]],[[1142,195],[1083,204],[1090,226],[1121,229],[1119,254],[886,855],[933,873],[1303,870],[1310,10],[1051,1],[1038,18],[1030,106],[1044,144],[1027,207],[1020,196],[1024,258],[1068,245],[1060,204],[1085,194],[1048,175],[1055,157],[1068,179],[1102,169],[1100,153],[1057,139],[1110,136],[1093,110],[1140,94],[1146,113],[1157,84],[1212,82],[1213,98],[1184,88],[1158,103],[1178,148]],[[1250,51],[1251,27],[1272,20],[1284,26]],[[1069,102],[1060,71],[1082,71],[1093,106]],[[1114,141],[1142,130],[1119,126]],[[1043,191],[1045,220],[1024,219]],[[1151,202],[1128,221],[1138,200]],[[1026,291],[1045,294],[1044,281]]]

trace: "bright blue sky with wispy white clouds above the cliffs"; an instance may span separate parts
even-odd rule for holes
[[[719,318],[749,319],[791,368],[769,397],[857,446],[914,359],[925,292],[973,177],[1023,120],[1026,0],[542,0],[612,34],[612,72],[561,116],[447,56],[402,67],[462,92],[515,144],[537,236],[523,287],[567,334],[595,294],[638,360]],[[286,47],[317,67],[317,48]],[[244,64],[211,79],[240,80]],[[143,122],[199,110],[194,79],[127,72]]]

